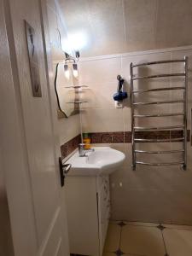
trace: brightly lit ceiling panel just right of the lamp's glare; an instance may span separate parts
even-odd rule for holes
[[[121,0],[90,1],[90,22],[95,39],[94,55],[125,51],[124,17]]]

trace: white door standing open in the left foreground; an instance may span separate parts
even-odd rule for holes
[[[68,254],[40,6],[0,0],[0,137],[15,256]],[[32,96],[24,20],[36,32],[42,97]]]

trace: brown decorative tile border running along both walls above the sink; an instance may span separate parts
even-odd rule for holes
[[[131,131],[116,132],[90,132],[90,142],[96,143],[131,143]],[[169,139],[183,137],[183,131],[137,131],[137,138],[144,139]],[[190,141],[190,131],[188,130],[188,142]],[[63,158],[71,154],[81,143],[80,134],[73,137],[67,143],[61,145],[61,156]]]

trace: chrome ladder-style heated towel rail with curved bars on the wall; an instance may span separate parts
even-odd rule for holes
[[[153,74],[150,76],[137,76],[134,74],[135,67],[148,67],[150,65],[160,65],[160,64],[168,64],[168,63],[182,63],[183,64],[183,73],[162,73],[162,74]],[[186,170],[187,167],[187,91],[188,91],[188,57],[185,56],[183,59],[178,60],[167,60],[167,61],[152,61],[152,62],[145,62],[142,64],[133,63],[130,64],[130,74],[131,74],[131,146],[132,146],[132,168],[135,171],[137,165],[146,165],[146,166],[183,166],[183,170]],[[140,80],[140,86],[143,85],[142,81],[146,79],[162,79],[162,78],[172,78],[172,77],[181,77],[184,79],[183,86],[168,86],[168,87],[158,87],[158,88],[150,88],[145,89],[144,86],[140,90],[135,89],[135,82]],[[144,93],[148,93],[151,91],[164,91],[164,90],[183,90],[183,98],[179,100],[166,100],[166,101],[156,101],[156,102],[136,102],[136,95]],[[139,106],[144,105],[160,105],[160,104],[174,104],[174,103],[182,103],[183,104],[183,111],[179,111],[177,113],[146,113],[140,114],[136,113],[136,108]],[[143,118],[153,118],[153,117],[173,117],[173,116],[183,116],[183,124],[182,125],[175,125],[175,126],[137,126],[136,119],[143,119]],[[136,137],[138,131],[174,131],[178,130],[182,131],[182,137],[170,137],[170,138],[142,138]],[[180,142],[183,145],[182,149],[177,150],[138,150],[136,148],[136,143],[172,143],[172,142]],[[179,161],[171,161],[171,162],[146,162],[142,160],[137,160],[137,154],[183,154],[183,159]]]

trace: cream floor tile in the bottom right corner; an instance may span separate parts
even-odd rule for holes
[[[163,230],[166,251],[169,256],[192,255],[192,230]]]

